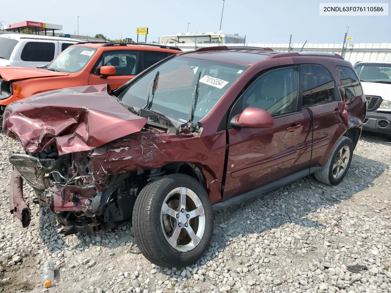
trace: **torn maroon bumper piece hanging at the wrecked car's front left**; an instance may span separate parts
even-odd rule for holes
[[[23,228],[30,225],[30,208],[23,198],[23,179],[16,170],[11,172],[9,184],[9,209],[11,214],[14,214],[16,218],[22,221]]]

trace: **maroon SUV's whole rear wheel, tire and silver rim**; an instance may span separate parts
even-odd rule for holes
[[[328,185],[339,184],[348,172],[352,157],[353,142],[342,136],[335,144],[324,168],[314,173],[316,180]]]

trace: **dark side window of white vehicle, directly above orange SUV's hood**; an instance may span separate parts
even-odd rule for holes
[[[22,50],[20,59],[33,62],[50,62],[54,58],[54,43],[28,42]]]

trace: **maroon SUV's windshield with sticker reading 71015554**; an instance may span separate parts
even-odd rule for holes
[[[186,123],[200,77],[193,118],[196,124],[246,68],[248,66],[173,57],[130,84],[119,98],[128,106],[159,111],[168,118]]]

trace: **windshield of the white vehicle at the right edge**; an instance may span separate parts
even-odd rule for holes
[[[391,64],[360,63],[354,69],[362,81],[391,83]]]

